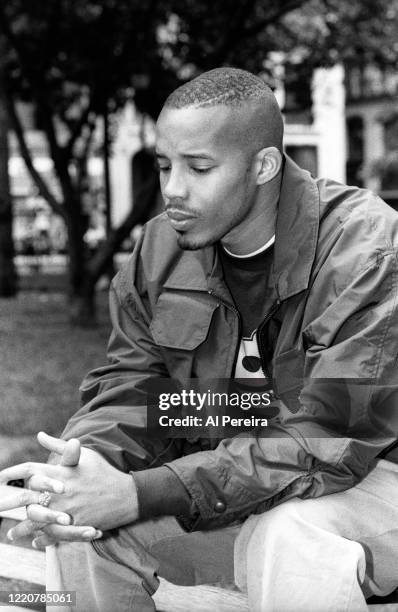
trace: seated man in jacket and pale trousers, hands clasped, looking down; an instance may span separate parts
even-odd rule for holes
[[[251,610],[276,612],[366,610],[398,584],[397,216],[313,179],[282,135],[273,94],[245,71],[171,94],[157,122],[166,211],[112,285],[109,363],[63,434],[82,445],[77,465],[1,474],[63,483],[28,512],[38,545],[59,542],[51,588],[76,590],[78,609],[153,610],[158,572],[234,572]],[[155,437],[157,377],[272,381],[280,412],[221,442]]]

